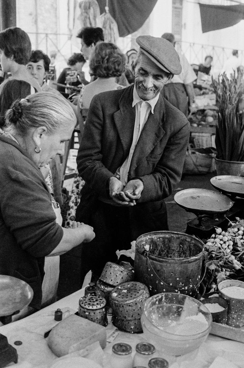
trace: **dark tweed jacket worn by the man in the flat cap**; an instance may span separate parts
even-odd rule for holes
[[[107,180],[130,152],[135,123],[133,88],[99,93],[92,99],[77,156],[78,172],[86,183],[78,212],[93,195],[107,198]],[[171,194],[181,179],[189,135],[184,114],[160,95],[142,129],[128,173],[128,181],[137,177],[144,184],[138,204]]]

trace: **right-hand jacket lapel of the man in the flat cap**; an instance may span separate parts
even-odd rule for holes
[[[139,162],[149,155],[158,141],[165,135],[165,131],[163,130],[164,121],[165,106],[162,97],[159,96],[159,100],[155,105],[154,114],[151,112],[149,113],[148,120],[146,121],[137,145],[135,146],[135,151],[130,165],[130,172],[134,171]]]

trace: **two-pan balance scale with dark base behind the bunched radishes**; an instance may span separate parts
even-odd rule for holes
[[[185,233],[208,239],[215,227],[225,228],[229,220],[244,217],[244,177],[221,175],[210,180],[214,188],[190,188],[177,192],[175,202],[197,217],[187,222]]]

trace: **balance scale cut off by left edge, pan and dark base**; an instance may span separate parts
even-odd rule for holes
[[[0,275],[0,322],[6,325],[29,305],[33,298],[32,288],[24,281],[12,276]],[[16,349],[8,343],[7,337],[0,333],[0,367],[18,362]]]

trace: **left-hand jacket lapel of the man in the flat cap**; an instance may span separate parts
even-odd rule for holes
[[[135,125],[135,107],[132,107],[133,87],[134,85],[125,89],[119,101],[120,109],[114,113],[114,123],[124,152],[130,151]]]

